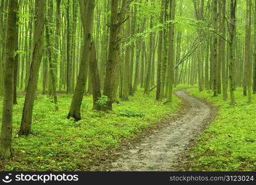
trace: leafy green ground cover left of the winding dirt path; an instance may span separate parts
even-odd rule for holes
[[[144,128],[156,124],[167,113],[175,113],[181,106],[176,96],[173,103],[163,104],[155,101],[155,91],[148,97],[143,94],[143,89],[139,89],[130,101],[114,104],[113,111],[104,113],[92,110],[92,97],[85,96],[81,107],[83,120],[74,122],[66,118],[71,94],[59,95],[58,112],[54,111],[52,98],[40,94],[33,110],[35,136],[17,137],[24,99],[19,96],[19,104],[14,106],[13,157],[1,161],[0,171],[85,170],[91,162],[120,146],[122,139],[134,138]],[[132,116],[127,117],[127,113]]]

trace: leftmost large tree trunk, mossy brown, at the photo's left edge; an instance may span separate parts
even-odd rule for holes
[[[2,106],[2,127],[0,135],[0,156],[10,157],[12,141],[12,103],[14,92],[15,35],[17,29],[18,1],[9,0],[7,19],[6,65],[4,73],[4,102]]]

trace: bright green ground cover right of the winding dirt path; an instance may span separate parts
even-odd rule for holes
[[[252,103],[237,88],[236,105],[229,105],[222,96],[212,97],[206,91],[189,89],[197,97],[219,108],[215,121],[198,139],[189,154],[193,171],[255,171],[256,170],[256,96]]]

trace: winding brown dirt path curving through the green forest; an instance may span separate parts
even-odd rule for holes
[[[120,153],[120,157],[109,162],[108,171],[175,171],[183,163],[181,155],[189,149],[192,140],[211,117],[210,106],[190,96],[186,90],[175,94],[189,104],[183,116],[162,130],[154,131],[133,149]]]

